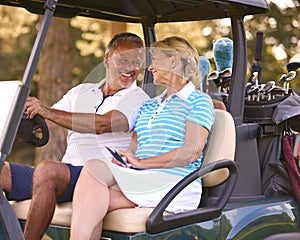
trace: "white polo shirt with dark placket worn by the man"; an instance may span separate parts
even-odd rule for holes
[[[111,110],[122,112],[128,119],[130,130],[133,129],[140,105],[149,96],[134,82],[103,100],[100,83],[84,83],[69,90],[64,97],[53,105],[53,108],[68,112],[104,114]],[[78,133],[68,131],[67,149],[62,159],[64,163],[74,166],[83,165],[90,159],[110,159],[105,146],[112,149],[127,149],[131,140],[131,132],[113,132],[104,134]]]

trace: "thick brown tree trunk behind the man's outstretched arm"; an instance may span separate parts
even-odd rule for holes
[[[71,88],[70,38],[69,20],[53,18],[38,65],[38,97],[47,106],[52,106]],[[36,164],[44,159],[62,159],[66,132],[66,129],[59,127],[50,133],[48,144],[37,148]]]

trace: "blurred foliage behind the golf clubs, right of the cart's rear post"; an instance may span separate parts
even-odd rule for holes
[[[264,33],[263,46],[263,77],[262,81],[274,80],[276,84],[286,65],[291,61],[300,61],[300,15],[299,6],[280,9],[274,3],[270,4],[267,15],[254,16],[246,21],[245,27],[248,36],[249,62],[254,62],[255,33]],[[300,70],[297,77],[291,82],[291,87],[300,93]]]

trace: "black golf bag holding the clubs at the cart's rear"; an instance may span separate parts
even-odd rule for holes
[[[300,97],[291,91],[272,100],[246,100],[244,121],[259,123],[261,128],[257,144],[263,195],[293,193],[282,141],[287,132],[300,132]]]

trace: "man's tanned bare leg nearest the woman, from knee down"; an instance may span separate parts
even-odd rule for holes
[[[56,199],[66,190],[69,182],[70,171],[64,163],[44,160],[36,167],[25,239],[40,240],[43,237],[52,220]]]

